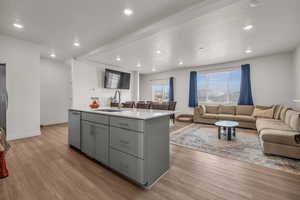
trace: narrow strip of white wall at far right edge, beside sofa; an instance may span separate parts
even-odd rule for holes
[[[294,99],[300,100],[300,45],[294,52]],[[294,104],[295,108],[300,111],[300,102]]]

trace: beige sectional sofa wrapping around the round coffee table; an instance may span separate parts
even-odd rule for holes
[[[254,117],[257,108],[273,109],[270,118]],[[300,112],[282,105],[265,106],[199,106],[194,122],[214,124],[220,120],[239,122],[239,127],[257,129],[263,152],[300,159]]]

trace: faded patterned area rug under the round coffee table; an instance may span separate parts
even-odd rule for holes
[[[219,140],[216,127],[190,124],[171,132],[170,138],[172,144],[300,175],[300,160],[264,155],[256,131],[237,129],[236,134],[232,141]]]

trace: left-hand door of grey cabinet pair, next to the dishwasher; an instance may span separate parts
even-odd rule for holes
[[[95,158],[94,126],[90,122],[81,122],[81,150],[91,158]]]

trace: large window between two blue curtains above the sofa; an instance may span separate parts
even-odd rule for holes
[[[202,104],[237,104],[240,96],[241,70],[198,73],[198,102]]]

